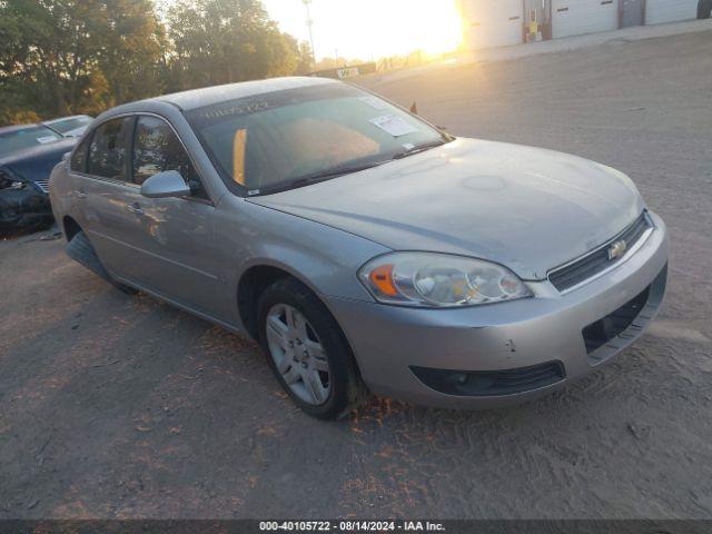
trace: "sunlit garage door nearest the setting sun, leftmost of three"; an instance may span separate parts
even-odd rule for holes
[[[464,0],[465,39],[472,49],[522,42],[522,0]]]

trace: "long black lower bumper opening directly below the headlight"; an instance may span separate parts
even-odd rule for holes
[[[566,376],[561,362],[501,370],[411,369],[423,384],[436,392],[467,397],[516,395],[551,386]]]

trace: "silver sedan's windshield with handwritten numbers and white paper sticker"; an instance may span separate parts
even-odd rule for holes
[[[219,102],[186,117],[218,172],[250,195],[333,178],[445,142],[416,117],[340,83]]]

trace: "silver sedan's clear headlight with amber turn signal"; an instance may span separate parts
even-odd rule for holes
[[[532,296],[501,265],[436,253],[386,254],[364,265],[358,278],[379,303],[405,306],[473,306]]]

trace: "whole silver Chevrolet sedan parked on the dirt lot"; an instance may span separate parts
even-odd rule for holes
[[[72,258],[251,336],[320,418],[369,392],[533,398],[631,344],[665,289],[665,225],[625,175],[317,78],[111,109],[50,195]]]

